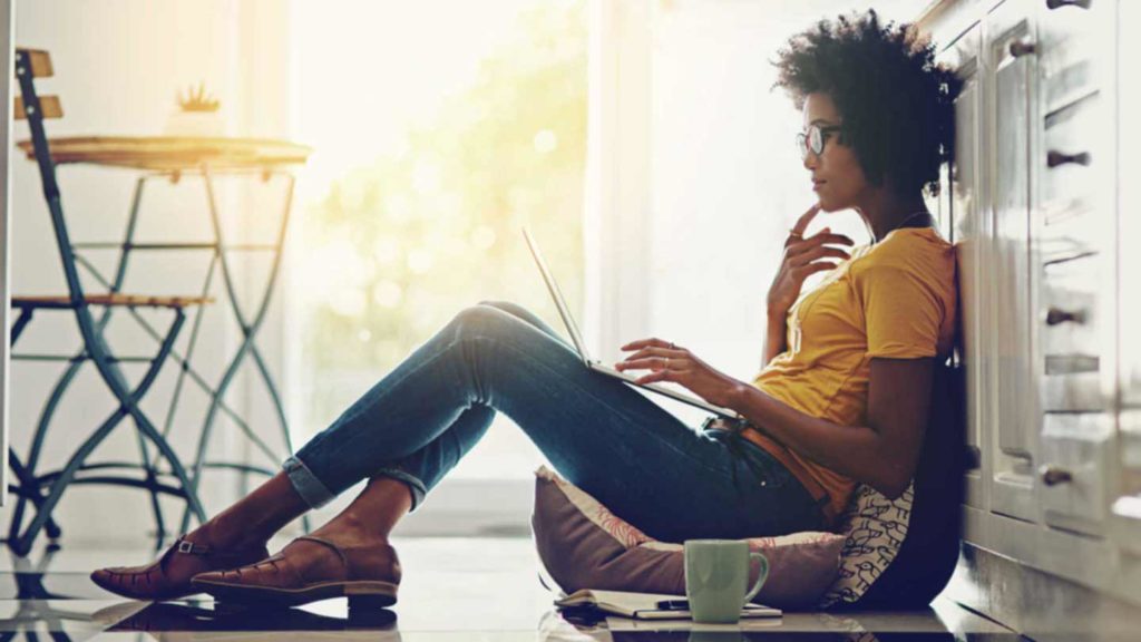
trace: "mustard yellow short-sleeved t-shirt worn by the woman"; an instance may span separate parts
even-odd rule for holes
[[[788,406],[841,426],[866,425],[873,356],[945,356],[955,335],[955,250],[932,227],[903,227],[802,292],[788,311],[788,348],[753,385]],[[758,431],[746,438],[782,462],[799,463],[840,514],[856,483]],[[796,466],[790,466],[796,472]]]

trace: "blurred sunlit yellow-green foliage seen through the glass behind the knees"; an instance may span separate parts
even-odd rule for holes
[[[468,90],[408,133],[400,154],[350,171],[307,212],[301,268],[347,266],[327,291],[302,295],[315,302],[302,346],[307,432],[479,300],[516,302],[561,331],[524,224],[580,314],[583,5],[541,2],[524,13],[515,38],[483,61]]]

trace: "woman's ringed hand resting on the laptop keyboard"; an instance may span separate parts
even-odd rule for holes
[[[743,382],[719,372],[683,347],[670,342],[649,338],[630,342],[622,350],[637,350],[614,366],[618,371],[652,370],[638,378],[639,384],[654,382],[673,382],[705,401],[715,406],[730,408],[737,398]]]

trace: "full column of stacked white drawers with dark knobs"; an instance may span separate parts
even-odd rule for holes
[[[1034,248],[1050,528],[1101,537],[1117,471],[1115,3],[1037,5]]]

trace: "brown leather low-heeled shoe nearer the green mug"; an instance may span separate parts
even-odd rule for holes
[[[324,555],[305,572],[289,560],[289,551],[302,541],[321,544],[335,555]],[[308,577],[307,577],[308,576]],[[389,545],[346,548],[327,539],[302,536],[280,553],[238,569],[195,576],[194,588],[218,602],[260,607],[296,607],[348,597],[349,609],[377,609],[396,603],[400,562]]]

